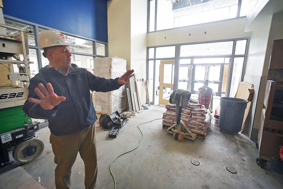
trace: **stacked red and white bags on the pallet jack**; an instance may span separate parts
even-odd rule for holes
[[[203,105],[189,102],[187,109],[182,109],[181,120],[193,133],[206,135],[208,127],[211,126],[212,115]],[[162,127],[169,128],[174,124],[176,124],[176,104],[168,103],[162,116]]]

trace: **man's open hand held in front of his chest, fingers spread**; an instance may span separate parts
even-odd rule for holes
[[[29,101],[40,104],[43,109],[52,110],[54,106],[57,106],[61,101],[66,100],[65,96],[57,96],[57,94],[54,93],[51,83],[47,83],[48,91],[42,83],[39,83],[38,87],[36,87],[34,91],[37,93],[40,99],[29,98]]]

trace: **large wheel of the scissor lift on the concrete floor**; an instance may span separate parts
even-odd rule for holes
[[[29,163],[39,157],[42,154],[43,149],[43,142],[39,139],[33,138],[19,142],[13,150],[13,157],[19,163]]]

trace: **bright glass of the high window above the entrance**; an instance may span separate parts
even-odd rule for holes
[[[248,1],[248,0],[246,0]],[[246,15],[247,3],[242,0],[241,14]],[[156,11],[156,23],[155,23]],[[149,1],[149,32],[190,26],[237,17],[238,0]]]

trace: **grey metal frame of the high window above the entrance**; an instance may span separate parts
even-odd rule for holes
[[[234,20],[234,19],[240,19],[240,18],[246,18],[247,16],[242,16],[240,17],[240,11],[241,11],[241,5],[242,5],[242,0],[238,0],[238,9],[237,9],[237,15],[235,18],[228,18],[228,19],[223,19],[223,20],[216,20],[213,22],[205,22],[205,23],[199,23],[199,24],[192,24],[192,25],[188,25],[188,26],[181,26],[181,27],[173,27],[173,28],[168,28],[168,29],[161,29],[161,30],[156,30],[156,26],[157,26],[157,1],[155,0],[155,14],[154,14],[154,31],[149,31],[149,12],[150,12],[150,3],[149,1],[152,0],[148,0],[147,4],[148,4],[148,10],[147,10],[147,33],[152,33],[152,32],[159,32],[159,31],[165,31],[165,30],[169,30],[169,29],[176,29],[176,28],[183,28],[183,27],[191,27],[191,26],[198,26],[198,25],[202,25],[202,24],[211,24],[211,23],[216,23],[216,22],[222,22],[222,21],[229,21],[229,20]]]

